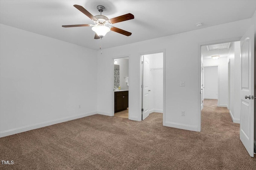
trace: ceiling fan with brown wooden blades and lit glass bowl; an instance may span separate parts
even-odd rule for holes
[[[108,33],[110,30],[126,35],[126,36],[130,36],[132,35],[132,33],[128,32],[128,31],[124,31],[120,28],[117,27],[107,27],[106,25],[111,25],[113,23],[118,23],[118,22],[122,22],[122,21],[127,21],[127,20],[132,20],[134,19],[134,15],[132,14],[125,14],[122,16],[118,16],[112,19],[108,19],[106,16],[101,15],[101,13],[105,10],[105,7],[102,5],[98,5],[97,9],[100,12],[100,15],[98,16],[93,16],[90,12],[88,12],[86,9],[84,9],[84,7],[80,6],[80,5],[74,5],[74,7],[76,7],[78,10],[80,10],[82,13],[84,13],[86,16],[88,16],[90,19],[93,20],[95,25],[92,24],[79,24],[79,25],[62,25],[62,27],[87,27],[87,26],[93,26],[92,30],[95,32],[95,36],[94,39],[100,39],[102,37],[104,37],[106,35],[106,33]]]

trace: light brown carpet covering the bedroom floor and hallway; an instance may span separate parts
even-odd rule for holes
[[[202,132],[164,127],[162,114],[151,113],[140,122],[92,115],[2,137],[0,159],[14,164],[0,169],[255,170],[239,124],[213,103],[205,100]]]

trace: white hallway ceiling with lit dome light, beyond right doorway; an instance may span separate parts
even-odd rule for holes
[[[218,44],[216,44],[216,46],[217,45]],[[203,59],[212,59],[212,56],[214,55],[219,55],[220,57],[228,57],[228,53],[232,45],[234,45],[234,42],[230,44],[230,47],[228,49],[219,49],[219,50],[210,50],[210,51],[207,50],[206,45],[202,46],[201,53],[203,55]]]

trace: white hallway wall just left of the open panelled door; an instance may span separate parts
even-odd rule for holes
[[[232,43],[228,59],[230,59],[230,116],[234,123],[240,123],[240,41]]]

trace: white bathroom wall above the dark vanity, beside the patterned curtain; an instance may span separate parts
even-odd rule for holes
[[[121,90],[128,90],[129,86],[127,86],[124,77],[129,77],[129,59],[116,59],[116,61],[119,65]]]

